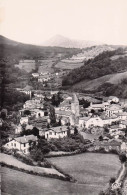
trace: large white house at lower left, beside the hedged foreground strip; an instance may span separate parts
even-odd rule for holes
[[[23,137],[13,138],[11,141],[4,145],[8,149],[17,149],[24,154],[29,153],[30,142],[37,142],[37,137],[34,135],[27,135]]]

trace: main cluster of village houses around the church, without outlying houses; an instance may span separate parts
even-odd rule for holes
[[[111,96],[107,101],[100,103],[91,101],[87,108],[83,108],[83,105],[79,105],[76,94],[63,93],[63,102],[55,107],[56,121],[60,121],[60,126],[57,127],[48,127],[50,117],[48,110],[44,109],[44,96],[42,94],[40,96],[36,94],[33,99],[26,101],[19,113],[20,123],[15,128],[16,135],[22,132],[23,127],[25,130],[32,130],[33,127],[36,127],[39,130],[39,135],[44,136],[45,139],[59,139],[68,136],[68,127],[71,134],[74,133],[76,127],[85,138],[86,132],[89,132],[89,137],[96,137],[98,133],[103,135],[104,128],[108,128],[108,134],[112,139],[109,140],[105,136],[103,142],[97,142],[96,149],[103,146],[108,150],[117,145],[119,149],[121,148],[122,151],[127,152],[127,142],[121,144],[122,139],[120,140],[120,138],[125,137],[124,129],[127,128],[127,112],[124,111],[124,106],[121,106],[117,97]],[[23,153],[28,153],[29,140],[35,141],[35,139],[37,138],[33,135],[30,137],[16,137],[9,141],[5,147],[17,148]],[[118,149],[118,147],[116,148]]]

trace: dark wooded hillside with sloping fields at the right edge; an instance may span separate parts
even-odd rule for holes
[[[105,51],[63,78],[63,87],[127,97],[127,48]],[[124,80],[124,81],[123,81]],[[124,87],[123,87],[124,86]]]

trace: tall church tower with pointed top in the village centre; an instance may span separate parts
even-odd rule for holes
[[[76,94],[73,94],[71,102],[71,125],[78,124],[79,122],[79,101]]]

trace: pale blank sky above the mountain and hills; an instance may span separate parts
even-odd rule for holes
[[[31,44],[60,34],[127,45],[127,0],[0,0],[0,34]]]

